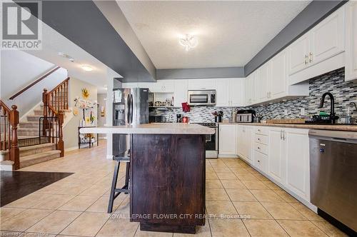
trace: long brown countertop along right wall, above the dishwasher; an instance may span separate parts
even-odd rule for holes
[[[228,123],[222,123],[228,124]],[[246,126],[272,126],[282,128],[306,128],[306,129],[322,129],[322,130],[335,130],[335,131],[357,131],[355,124],[308,124],[308,123],[231,123],[241,124]]]

